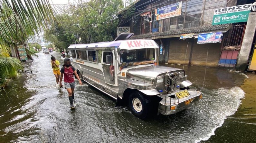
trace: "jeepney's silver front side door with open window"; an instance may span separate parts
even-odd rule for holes
[[[102,53],[102,69],[104,74],[105,83],[115,84],[115,65],[113,62],[114,52],[103,51]]]

